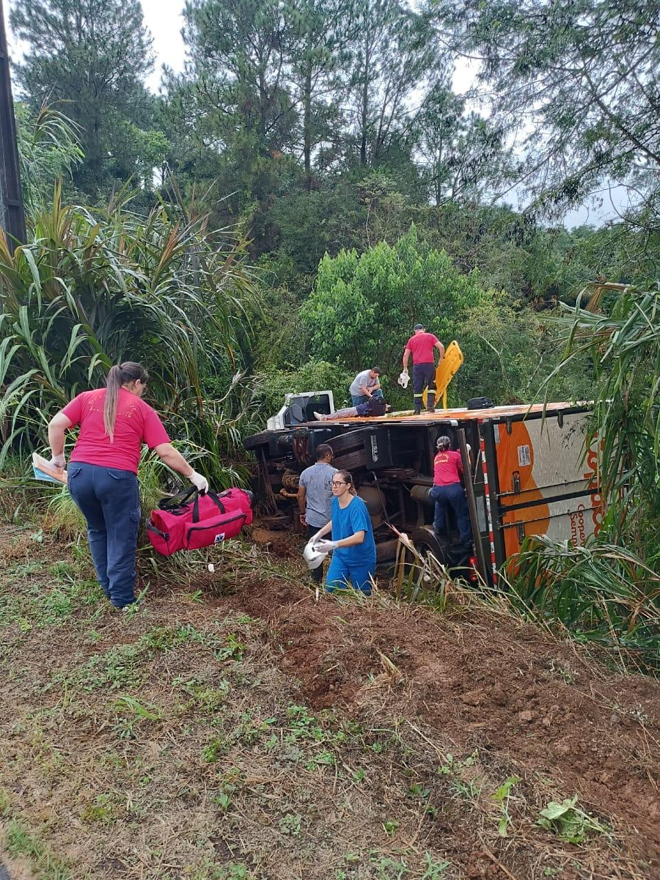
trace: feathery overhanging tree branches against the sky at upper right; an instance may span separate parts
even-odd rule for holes
[[[575,206],[603,180],[655,204],[660,166],[660,4],[642,0],[440,0],[495,86],[495,115],[526,158],[540,205]],[[521,136],[522,132],[522,136]]]

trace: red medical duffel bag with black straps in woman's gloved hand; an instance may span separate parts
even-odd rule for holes
[[[251,503],[252,494],[243,489],[226,489],[219,495],[200,495],[197,489],[189,489],[183,496],[165,498],[151,511],[147,534],[163,556],[178,550],[199,550],[235,538],[252,522]]]

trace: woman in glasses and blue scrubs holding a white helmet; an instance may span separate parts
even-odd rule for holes
[[[332,519],[320,529],[314,541],[322,553],[333,554],[327,569],[326,590],[345,590],[351,585],[370,596],[371,579],[376,571],[376,544],[369,510],[362,498],[357,497],[348,471],[333,474],[332,488]],[[323,540],[331,529],[333,539]]]

